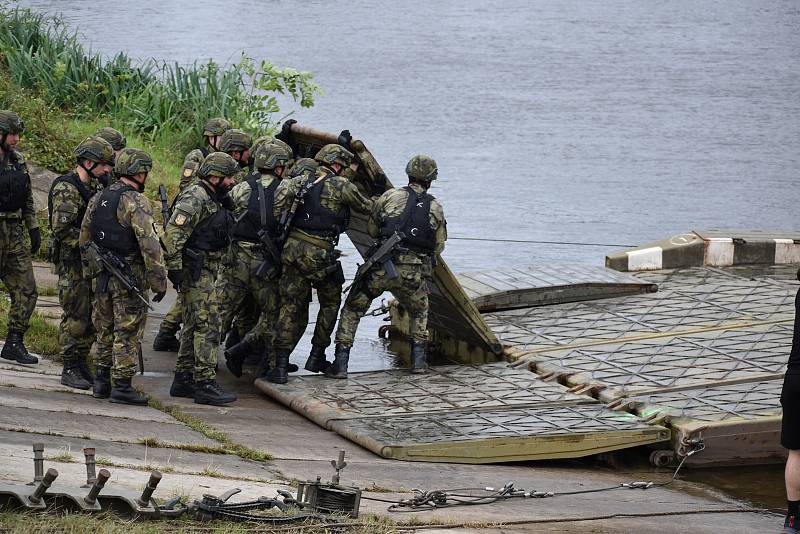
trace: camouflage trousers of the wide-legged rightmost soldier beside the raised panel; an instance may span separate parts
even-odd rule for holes
[[[370,304],[384,291],[391,291],[411,318],[411,337],[415,341],[428,339],[428,283],[420,264],[395,265],[397,278],[387,278],[383,269],[374,269],[350,290],[339,316],[336,343],[353,346],[356,330]]]

